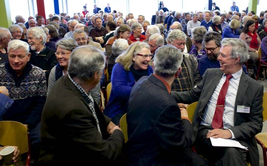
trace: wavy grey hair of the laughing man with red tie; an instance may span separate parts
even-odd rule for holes
[[[224,38],[221,42],[222,46],[232,46],[232,52],[230,58],[238,58],[240,56],[239,64],[244,64],[249,59],[249,52],[242,40],[238,38]]]

